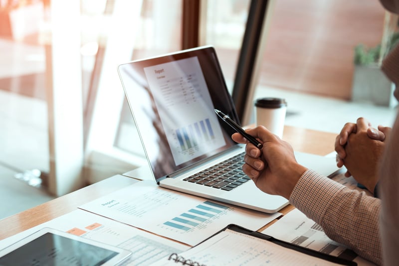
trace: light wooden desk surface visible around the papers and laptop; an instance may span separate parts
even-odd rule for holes
[[[326,155],[334,150],[336,135],[335,133],[286,126],[283,139],[291,143],[296,151]],[[110,194],[135,182],[137,182],[136,179],[127,176],[112,176],[65,196],[4,218],[0,220],[0,240],[71,212],[84,203]],[[292,209],[293,207],[289,205],[280,212],[286,214]]]

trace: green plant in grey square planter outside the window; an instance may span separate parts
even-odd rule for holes
[[[372,48],[363,44],[355,47],[352,101],[369,102],[388,107],[398,105],[398,101],[393,96],[395,84],[380,69],[384,57],[399,42],[399,32],[395,32],[398,17],[389,15],[391,19],[388,22],[386,19],[381,44]]]

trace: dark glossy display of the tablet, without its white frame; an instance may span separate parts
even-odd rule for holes
[[[1,266],[102,265],[118,253],[74,239],[45,233],[0,258]]]

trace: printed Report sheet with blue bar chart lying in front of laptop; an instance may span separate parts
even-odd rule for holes
[[[228,224],[256,231],[281,215],[213,202],[151,181],[140,181],[79,208],[191,246]]]

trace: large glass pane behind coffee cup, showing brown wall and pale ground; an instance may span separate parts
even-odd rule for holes
[[[384,17],[374,0],[275,1],[254,97],[286,98],[292,126],[338,133],[361,116],[390,125],[389,107],[350,101],[355,46],[381,43]],[[390,85],[385,90],[392,95]]]

